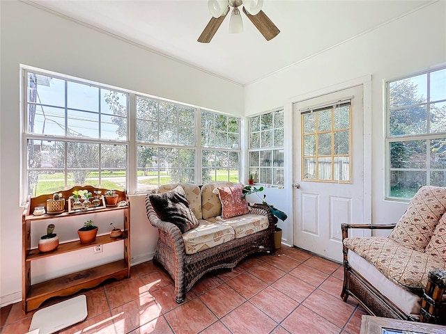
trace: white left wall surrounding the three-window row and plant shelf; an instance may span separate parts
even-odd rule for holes
[[[0,304],[7,305],[20,301],[22,287],[20,64],[239,116],[244,106],[242,86],[26,3],[0,1],[0,6]],[[151,257],[157,231],[147,221],[144,196],[132,196],[130,203],[134,264]]]

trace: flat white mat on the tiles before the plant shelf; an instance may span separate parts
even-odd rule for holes
[[[61,303],[38,310],[33,315],[29,331],[38,329],[39,334],[55,333],[85,320],[87,315],[86,296],[81,294],[67,301],[61,301]]]

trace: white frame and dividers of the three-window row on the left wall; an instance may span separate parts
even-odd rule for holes
[[[22,201],[22,203],[26,202],[26,198],[28,197],[28,193],[29,193],[29,189],[28,189],[28,185],[29,185],[29,176],[28,176],[28,171],[29,171],[29,165],[28,165],[28,147],[27,147],[27,142],[30,139],[35,139],[35,140],[41,140],[41,141],[62,141],[64,143],[70,143],[70,142],[82,142],[82,143],[98,143],[98,144],[105,144],[105,145],[114,145],[115,143],[118,145],[125,145],[126,147],[126,163],[125,163],[125,167],[123,168],[126,173],[125,173],[125,182],[126,182],[126,186],[125,189],[128,191],[129,194],[140,194],[140,193],[146,193],[147,191],[145,190],[137,190],[138,189],[138,173],[137,171],[139,170],[138,168],[138,154],[137,154],[137,148],[139,146],[144,146],[144,145],[149,145],[149,146],[153,146],[156,148],[176,148],[178,150],[181,149],[191,149],[194,150],[195,152],[195,163],[194,163],[194,175],[195,175],[195,183],[196,184],[201,184],[202,183],[202,173],[203,173],[203,168],[201,166],[201,159],[202,159],[202,150],[224,150],[224,151],[228,151],[228,152],[237,152],[238,154],[238,164],[239,164],[239,168],[238,168],[238,180],[240,182],[240,169],[242,166],[242,152],[241,152],[241,148],[243,147],[243,143],[241,143],[241,139],[242,139],[242,127],[243,127],[243,118],[241,118],[240,116],[236,116],[233,114],[229,114],[229,113],[222,113],[219,111],[213,111],[213,110],[209,110],[209,109],[201,109],[199,106],[193,106],[191,104],[185,104],[183,102],[176,102],[173,100],[168,100],[168,99],[163,99],[161,97],[155,97],[153,95],[148,95],[146,93],[139,93],[139,92],[135,92],[132,90],[128,90],[125,88],[119,88],[119,87],[114,87],[114,86],[110,86],[107,84],[100,84],[98,82],[94,82],[94,81],[89,81],[86,79],[80,79],[77,77],[71,77],[69,75],[66,74],[60,74],[60,73],[56,73],[56,72],[52,72],[52,71],[48,71],[48,70],[43,70],[43,69],[39,69],[36,67],[31,67],[28,65],[20,65],[20,72],[21,72],[21,80],[20,80],[20,101],[21,101],[21,141],[22,141],[22,145],[21,146],[21,154],[20,154],[20,199]],[[119,93],[124,93],[125,95],[127,95],[128,99],[127,99],[127,116],[126,116],[126,120],[127,120],[127,139],[125,141],[120,141],[120,140],[112,140],[112,139],[102,139],[102,138],[77,138],[75,136],[56,136],[56,135],[45,135],[45,134],[31,134],[28,131],[28,72],[31,73],[36,73],[36,74],[40,74],[46,77],[52,77],[52,78],[56,78],[56,79],[61,79],[63,81],[66,82],[75,82],[77,84],[83,84],[83,85],[89,85],[89,86],[94,86],[100,89],[107,89],[107,90],[114,90],[117,91]],[[67,84],[66,84],[67,85]],[[66,95],[66,94],[65,94]],[[180,143],[176,143],[176,144],[166,144],[166,143],[148,143],[148,142],[144,142],[144,141],[138,141],[137,140],[137,97],[144,97],[144,98],[148,98],[151,100],[157,100],[160,102],[167,102],[167,103],[171,103],[171,104],[178,104],[180,106],[186,106],[187,108],[192,108],[194,109],[194,125],[193,125],[193,131],[195,134],[195,141],[193,145],[182,145]],[[67,96],[65,96],[65,99],[67,99]],[[66,100],[65,100],[66,101]],[[67,103],[67,102],[66,102]],[[65,106],[65,108],[67,108],[67,106]],[[222,116],[226,116],[227,118],[236,118],[237,122],[238,122],[238,147],[237,148],[214,148],[214,147],[208,147],[208,146],[202,146],[201,145],[201,111],[206,111],[206,112],[211,112],[211,113],[215,113],[217,115],[222,115]],[[99,111],[98,111],[99,112]],[[67,117],[67,116],[65,116]],[[218,129],[217,129],[218,130]],[[158,130],[159,131],[159,130]],[[220,131],[220,130],[218,130]],[[226,129],[227,132],[227,129]],[[229,133],[229,132],[228,132]],[[100,136],[100,127],[99,127],[99,134],[98,136]],[[67,161],[67,152],[65,152],[65,157],[64,157],[64,161]],[[68,178],[68,172],[67,172],[67,164],[65,164],[64,168],[63,168],[63,173],[64,173],[64,189],[69,189],[70,186],[68,185],[69,182],[67,183],[67,178]],[[158,173],[159,174],[159,173]],[[158,175],[157,177],[158,182],[160,180],[160,175]],[[98,177],[98,180],[100,182],[100,177]],[[159,183],[162,184],[162,183]],[[158,184],[158,185],[159,185]],[[156,185],[154,185],[156,186]]]

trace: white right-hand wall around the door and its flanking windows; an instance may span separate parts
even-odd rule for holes
[[[348,19],[348,15],[344,19]],[[311,27],[309,27],[311,29]],[[372,152],[371,221],[375,224],[396,223],[406,209],[403,203],[383,200],[385,192],[385,145],[383,132],[383,80],[426,70],[446,63],[446,2],[438,1],[415,13],[401,17],[379,29],[334,47],[285,71],[245,87],[245,115],[284,106],[285,141],[291,148],[293,124],[291,104],[295,97],[345,81],[371,75]],[[285,150],[285,152],[290,152]],[[368,152],[366,154],[369,154]],[[298,157],[287,154],[286,191],[270,189],[268,202],[289,212],[282,223],[286,244],[293,240],[293,206],[291,166]],[[370,158],[369,158],[370,160]],[[360,222],[361,223],[361,222]]]

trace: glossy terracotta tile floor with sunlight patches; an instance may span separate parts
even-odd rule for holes
[[[148,261],[129,279],[82,292],[87,319],[59,333],[359,333],[365,312],[341,300],[342,278],[340,264],[282,246],[209,273],[177,304],[169,275]],[[32,315],[21,303],[1,308],[1,334],[26,333]]]

